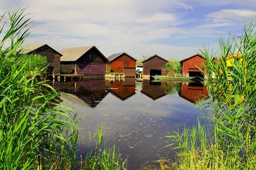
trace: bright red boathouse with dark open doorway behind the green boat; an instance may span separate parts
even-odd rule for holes
[[[199,54],[192,55],[180,61],[182,67],[182,74],[184,77],[204,77],[201,70],[204,71],[203,64],[205,59]],[[200,68],[200,69],[199,69]]]

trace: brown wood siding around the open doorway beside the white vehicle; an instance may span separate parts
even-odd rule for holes
[[[166,61],[155,56],[143,63],[143,76],[150,76],[150,70],[161,70],[162,76],[166,74]]]

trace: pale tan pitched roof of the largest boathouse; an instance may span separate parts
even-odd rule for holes
[[[95,48],[108,61],[108,59],[95,46],[64,48],[60,51],[60,53],[63,54],[61,61],[76,61],[91,48]]]

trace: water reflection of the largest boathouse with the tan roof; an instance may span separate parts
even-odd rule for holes
[[[95,108],[108,95],[108,92],[105,91],[105,80],[96,79],[65,82],[61,87],[61,94],[69,102]],[[75,97],[67,94],[73,94]]]

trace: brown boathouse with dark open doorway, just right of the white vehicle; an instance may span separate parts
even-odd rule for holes
[[[143,77],[151,77],[155,75],[166,75],[166,63],[168,60],[155,54],[148,59],[145,59],[143,63]]]

